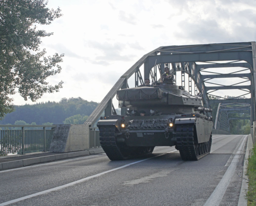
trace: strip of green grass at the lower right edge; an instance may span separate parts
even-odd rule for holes
[[[247,192],[248,205],[256,206],[256,146],[253,147],[248,158],[247,170],[249,187]]]

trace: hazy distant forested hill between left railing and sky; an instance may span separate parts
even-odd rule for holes
[[[59,102],[48,101],[35,105],[15,106],[15,111],[6,114],[0,124],[14,124],[16,121],[25,121],[27,124],[43,123],[63,124],[66,118],[74,115],[89,116],[98,103],[86,101],[81,97],[63,98]],[[81,124],[81,123],[80,123]]]

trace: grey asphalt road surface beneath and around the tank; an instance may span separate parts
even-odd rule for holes
[[[1,205],[237,205],[247,135],[214,135],[210,155],[174,147],[110,161],[105,154],[0,171]]]

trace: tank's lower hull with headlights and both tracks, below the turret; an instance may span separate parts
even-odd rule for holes
[[[124,123],[127,126],[122,128]],[[127,116],[101,120],[97,126],[101,146],[111,160],[144,155],[155,146],[176,146],[183,160],[199,160],[212,144],[213,122],[200,114]]]

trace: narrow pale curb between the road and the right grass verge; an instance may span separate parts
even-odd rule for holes
[[[248,165],[248,158],[249,158],[249,150],[251,150],[252,148],[253,148],[252,138],[251,138],[251,134],[249,134],[247,147],[246,147],[246,153],[245,153],[242,186],[241,186],[237,206],[247,206],[246,194],[248,191],[248,177],[247,177],[246,173],[247,173],[247,165]]]

